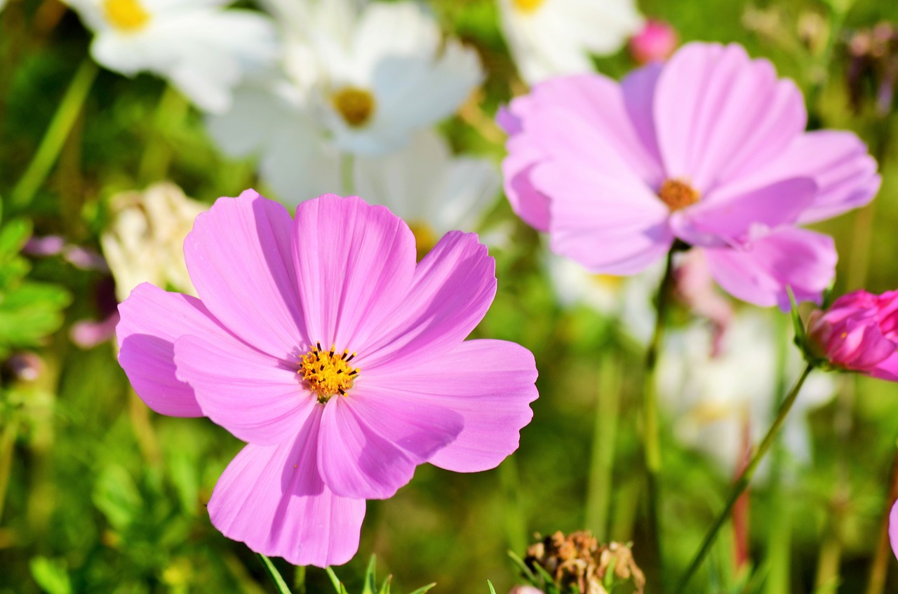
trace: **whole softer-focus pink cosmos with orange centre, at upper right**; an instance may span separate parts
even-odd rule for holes
[[[876,162],[849,132],[805,132],[796,85],[738,45],[691,43],[621,83],[557,78],[499,115],[506,194],[551,248],[630,275],[679,240],[728,293],[788,308],[819,300],[832,239],[797,227],[865,205]]]

